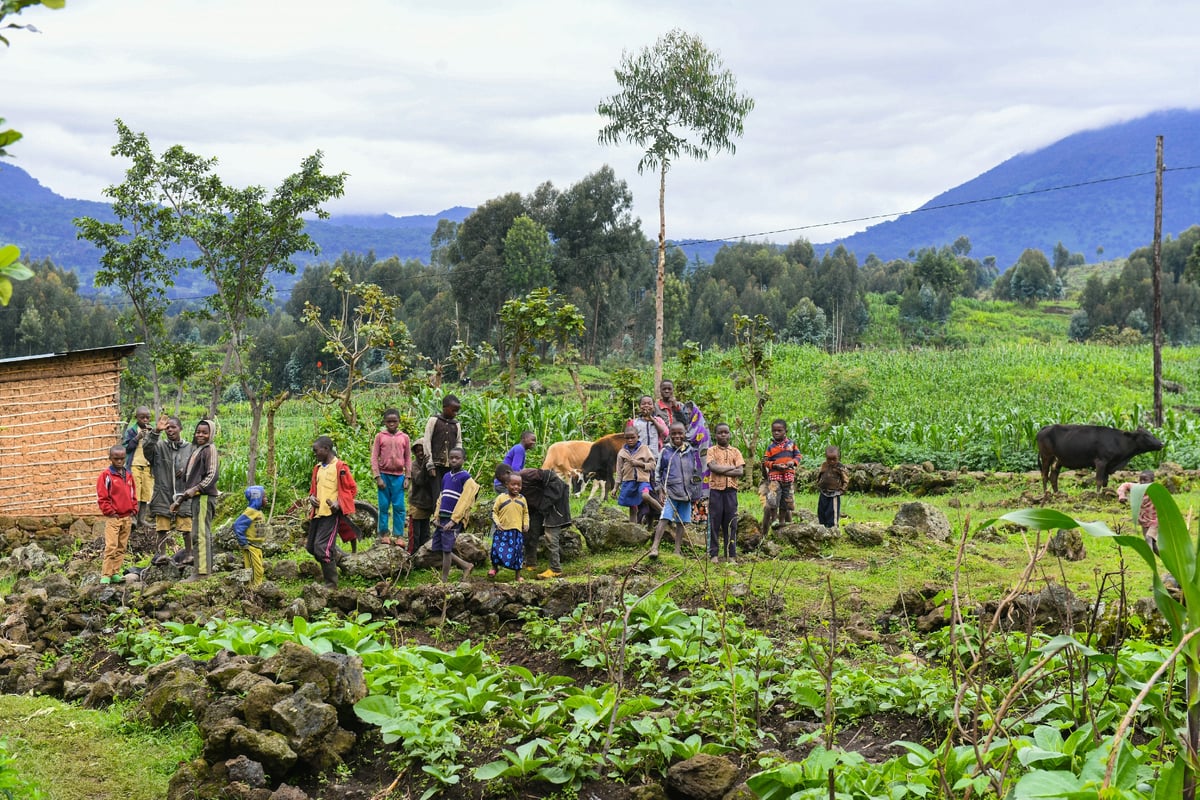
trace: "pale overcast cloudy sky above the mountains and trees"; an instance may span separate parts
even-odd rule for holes
[[[622,54],[672,28],[755,101],[734,155],[667,174],[676,240],[827,242],[1070,133],[1200,107],[1182,0],[67,0],[6,22],[38,29],[0,47],[12,163],[91,200],[128,166],[120,118],[236,185],[322,150],[348,174],[334,213],[476,206],[608,164],[654,236],[658,175],[598,143],[595,108]]]

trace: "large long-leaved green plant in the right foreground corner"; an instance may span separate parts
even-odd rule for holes
[[[1003,522],[1036,530],[1072,530],[1080,528],[1093,536],[1112,539],[1142,558],[1153,575],[1154,604],[1171,628],[1171,639],[1187,675],[1187,730],[1175,763],[1163,769],[1154,796],[1182,796],[1195,800],[1196,752],[1200,745],[1200,576],[1196,573],[1196,541],[1188,531],[1188,521],[1170,492],[1159,483],[1135,483],[1129,492],[1134,525],[1142,498],[1148,497],[1158,512],[1158,553],[1142,536],[1117,535],[1103,522],[1081,522],[1052,509],[1025,509],[1000,517]],[[1178,590],[1168,589],[1164,578],[1172,577]],[[1163,670],[1159,676],[1170,670]],[[1169,679],[1169,678],[1168,678]],[[1135,702],[1136,704],[1136,702]],[[1114,741],[1115,760],[1120,739]],[[1105,787],[1111,777],[1105,778]]]

